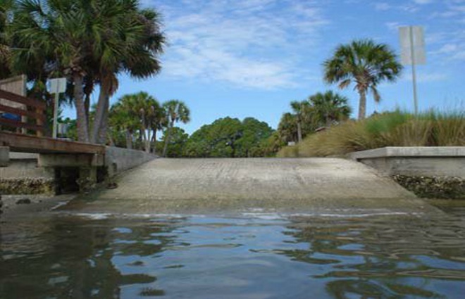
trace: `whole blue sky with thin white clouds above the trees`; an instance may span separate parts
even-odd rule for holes
[[[337,89],[322,80],[335,47],[372,38],[399,52],[398,27],[422,25],[427,64],[418,67],[421,110],[464,107],[465,0],[144,0],[163,15],[168,37],[160,75],[120,76],[123,94],[147,91],[187,103],[192,133],[218,117],[256,117],[277,127],[292,100]],[[411,71],[382,84],[367,112],[413,109]],[[358,94],[340,91],[358,107]],[[94,95],[97,99],[97,95]],[[70,112],[68,112],[70,113]],[[354,115],[356,116],[356,115]]]

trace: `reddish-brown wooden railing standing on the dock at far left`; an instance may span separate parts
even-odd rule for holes
[[[0,103],[0,112],[11,113],[20,117],[20,120],[8,120],[6,118],[0,117],[0,125],[32,130],[35,131],[36,135],[39,137],[44,135],[44,123],[46,120],[44,113],[46,105],[44,102],[32,98],[26,98],[25,96],[13,94],[9,91],[4,91],[1,89],[0,98],[15,103],[20,103],[25,106],[25,109],[21,109],[13,108],[12,106],[7,106]],[[30,120],[35,123],[30,122]]]

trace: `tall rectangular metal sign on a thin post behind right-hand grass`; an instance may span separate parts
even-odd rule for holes
[[[419,113],[418,96],[416,92],[416,65],[426,64],[425,37],[423,27],[399,27],[401,60],[403,65],[411,65],[411,76],[414,84],[415,114]]]

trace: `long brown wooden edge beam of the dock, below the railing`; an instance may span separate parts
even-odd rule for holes
[[[0,132],[0,146],[24,153],[99,153],[105,154],[105,146],[64,141],[47,137]]]

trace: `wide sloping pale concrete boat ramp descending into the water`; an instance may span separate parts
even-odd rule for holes
[[[117,182],[117,189],[89,194],[75,208],[149,213],[428,206],[389,177],[340,158],[161,158],[123,173]]]

